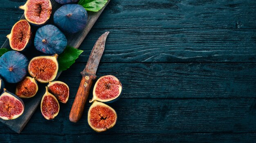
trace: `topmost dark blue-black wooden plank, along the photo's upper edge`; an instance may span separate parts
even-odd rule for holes
[[[0,1],[0,28],[11,28],[25,1]],[[94,27],[256,28],[255,6],[255,0],[112,0]]]

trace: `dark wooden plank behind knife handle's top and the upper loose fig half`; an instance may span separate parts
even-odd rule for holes
[[[74,98],[85,63],[76,63],[59,80]],[[256,98],[256,63],[101,63],[97,76],[121,81],[121,98]]]

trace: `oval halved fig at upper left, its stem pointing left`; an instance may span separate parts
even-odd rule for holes
[[[18,21],[11,28],[11,33],[7,35],[11,48],[16,51],[22,51],[27,48],[31,37],[31,27],[27,20]]]

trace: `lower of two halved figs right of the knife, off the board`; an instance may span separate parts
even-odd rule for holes
[[[117,122],[117,113],[110,106],[94,101],[88,111],[88,124],[96,132],[106,131]]]

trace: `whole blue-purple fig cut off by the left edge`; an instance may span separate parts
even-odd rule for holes
[[[28,63],[20,52],[8,51],[0,57],[0,75],[6,82],[20,82],[27,75]]]

